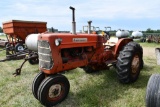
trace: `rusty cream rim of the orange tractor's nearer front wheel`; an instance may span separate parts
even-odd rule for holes
[[[63,85],[54,84],[49,88],[48,91],[48,100],[55,101],[59,100],[63,96]]]

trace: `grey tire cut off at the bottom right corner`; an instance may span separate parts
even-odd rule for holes
[[[146,90],[146,107],[160,107],[160,74],[152,74]]]

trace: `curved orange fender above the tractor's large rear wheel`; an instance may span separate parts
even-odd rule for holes
[[[133,39],[130,39],[130,38],[122,38],[118,40],[114,48],[114,56],[116,59],[119,55],[119,52],[122,50],[122,48],[131,41],[133,41]]]

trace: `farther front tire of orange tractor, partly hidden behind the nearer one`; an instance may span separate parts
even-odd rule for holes
[[[38,96],[37,96],[38,88],[44,79],[45,79],[45,74],[43,72],[39,72],[33,80],[32,93],[36,99],[38,99]]]

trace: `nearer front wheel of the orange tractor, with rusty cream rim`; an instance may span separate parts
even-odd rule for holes
[[[65,76],[51,75],[45,78],[39,86],[38,99],[44,106],[54,106],[67,97],[69,89],[70,84]]]

